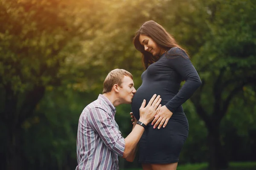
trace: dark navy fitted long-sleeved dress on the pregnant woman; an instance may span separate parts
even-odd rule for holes
[[[201,85],[198,73],[186,53],[175,47],[149,65],[141,77],[142,85],[131,104],[135,118],[140,119],[139,108],[143,99],[148,103],[154,94],[161,95],[162,106],[166,105],[173,115],[165,128],[153,129],[151,123],[145,128],[139,143],[139,161],[151,164],[178,162],[189,133],[189,124],[181,105]],[[180,88],[182,80],[186,82]]]

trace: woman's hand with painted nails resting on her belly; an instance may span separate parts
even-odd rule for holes
[[[166,106],[162,106],[160,108],[160,111],[155,116],[153,122],[151,125],[154,125],[154,129],[158,126],[158,129],[160,129],[163,125],[163,127],[166,127],[169,119],[172,117],[172,112],[166,108]]]

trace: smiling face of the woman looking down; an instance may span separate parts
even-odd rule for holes
[[[144,50],[150,52],[153,56],[161,56],[165,50],[160,48],[150,37],[140,34],[140,44],[144,46]]]

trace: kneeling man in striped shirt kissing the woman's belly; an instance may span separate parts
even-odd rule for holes
[[[156,94],[146,107],[143,100],[140,119],[134,123],[131,133],[123,138],[115,121],[115,107],[131,103],[135,93],[131,73],[115,69],[108,74],[103,83],[103,93],[84,108],[79,118],[76,170],[119,170],[118,156],[127,161],[134,160],[145,126],[161,107],[160,96]]]

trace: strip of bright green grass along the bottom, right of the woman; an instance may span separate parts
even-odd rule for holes
[[[142,170],[142,169],[120,169],[120,170]],[[177,170],[207,170],[207,163],[178,165]],[[226,170],[256,170],[256,162],[230,162]]]

